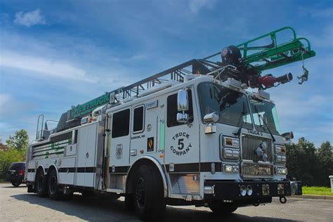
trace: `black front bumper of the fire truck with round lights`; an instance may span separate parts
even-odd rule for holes
[[[252,188],[252,194],[241,195],[242,185]],[[225,202],[271,202],[272,197],[302,195],[300,181],[205,181],[205,200]]]

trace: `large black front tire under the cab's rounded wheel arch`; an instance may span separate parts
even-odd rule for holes
[[[148,220],[162,217],[166,204],[159,172],[141,165],[136,171],[134,184],[134,209],[138,218]]]

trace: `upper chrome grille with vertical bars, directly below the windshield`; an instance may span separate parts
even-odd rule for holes
[[[252,135],[242,135],[242,159],[252,160],[253,162],[261,161],[261,157],[256,155],[256,148],[260,143],[266,142],[267,150],[263,151],[268,156],[267,162],[273,162],[272,159],[272,142],[269,138],[263,138]]]

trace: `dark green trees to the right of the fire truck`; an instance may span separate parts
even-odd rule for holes
[[[300,138],[287,146],[288,177],[302,181],[303,185],[329,186],[332,171],[332,148],[327,141],[316,149],[313,143]]]

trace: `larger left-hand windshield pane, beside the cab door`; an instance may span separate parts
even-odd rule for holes
[[[218,112],[218,122],[252,129],[247,96],[209,82],[200,84],[198,93],[202,119],[204,115]]]

